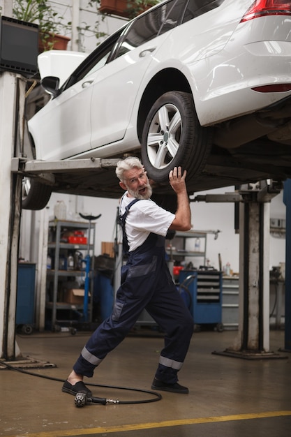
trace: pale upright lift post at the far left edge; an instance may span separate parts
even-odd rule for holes
[[[25,82],[14,73],[0,75],[0,350],[1,357],[20,355],[15,342],[17,264],[20,235],[22,177],[12,175],[16,152],[17,117],[24,105]]]

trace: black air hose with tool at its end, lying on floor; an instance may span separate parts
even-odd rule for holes
[[[33,373],[31,371],[20,369],[19,367],[13,367],[10,364],[7,364],[6,362],[1,361],[1,364],[3,364],[3,366],[6,366],[10,370],[18,371],[20,373],[26,373],[27,375],[38,376],[38,378],[45,378],[45,379],[49,379],[49,380],[54,380],[54,381],[58,381],[60,383],[65,382],[64,379],[52,378],[52,376],[40,375],[38,373]],[[152,394],[154,397],[149,398],[149,399],[140,399],[139,401],[121,401],[119,399],[106,399],[106,398],[98,398],[98,397],[89,397],[87,394],[79,392],[76,394],[76,397],[75,397],[75,406],[83,407],[83,406],[87,405],[88,403],[100,403],[102,405],[107,405],[107,404],[116,405],[117,403],[119,403],[119,404],[149,403],[149,402],[161,401],[161,399],[162,399],[162,395],[160,393],[152,392],[151,390],[144,390],[144,389],[132,388],[132,387],[121,387],[118,385],[104,385],[104,384],[93,384],[93,383],[87,383],[87,385],[91,385],[94,387],[110,388],[113,390],[127,390],[127,391],[131,391],[131,392],[147,393],[147,394]]]

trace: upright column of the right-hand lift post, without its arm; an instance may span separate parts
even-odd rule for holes
[[[269,204],[240,205],[241,305],[239,342],[234,350],[269,352]]]

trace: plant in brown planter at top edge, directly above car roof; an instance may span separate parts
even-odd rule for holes
[[[157,3],[158,0],[100,0],[99,11],[131,19]]]

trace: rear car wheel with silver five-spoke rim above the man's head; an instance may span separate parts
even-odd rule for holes
[[[197,119],[191,94],[169,91],[154,103],[142,132],[142,163],[149,179],[167,182],[181,165],[187,179],[204,168],[211,150],[211,130]]]

